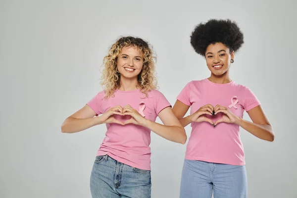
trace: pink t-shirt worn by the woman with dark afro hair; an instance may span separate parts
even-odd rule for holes
[[[260,105],[259,100],[247,87],[238,85],[234,81],[215,84],[208,79],[191,81],[177,99],[191,106],[191,115],[206,104],[211,104],[213,107],[219,104],[242,118],[244,110],[248,111]],[[206,117],[215,121],[222,117],[222,113],[206,115]],[[246,164],[239,125],[219,123],[213,127],[208,122],[194,122],[191,126],[192,132],[187,145],[186,159],[232,165]]]

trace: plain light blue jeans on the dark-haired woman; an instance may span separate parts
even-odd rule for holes
[[[180,198],[247,198],[246,166],[185,159]]]

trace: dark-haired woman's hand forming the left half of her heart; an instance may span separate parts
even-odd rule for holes
[[[213,121],[205,116],[205,114],[213,115],[214,107],[211,104],[201,106],[195,113],[189,116],[191,122],[209,122],[214,124]]]

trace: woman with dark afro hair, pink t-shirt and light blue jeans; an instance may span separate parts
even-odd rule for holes
[[[173,112],[192,132],[182,171],[180,198],[247,198],[245,153],[239,129],[267,141],[273,129],[259,100],[229,77],[235,52],[244,43],[231,20],[211,19],[192,32],[191,45],[204,56],[209,78],[191,81],[181,91]],[[191,106],[190,115],[184,117]],[[252,122],[243,119],[247,111]]]

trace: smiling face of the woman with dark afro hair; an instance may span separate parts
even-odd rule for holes
[[[230,52],[222,43],[210,44],[205,51],[205,59],[213,75],[223,76],[230,68],[231,59],[234,59],[234,51]]]

